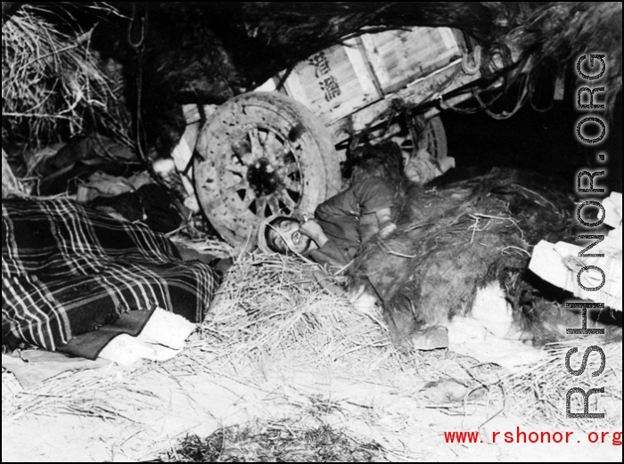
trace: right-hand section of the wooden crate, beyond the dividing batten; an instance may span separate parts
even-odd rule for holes
[[[361,38],[383,94],[447,66],[462,53],[462,44],[450,28],[389,30]]]

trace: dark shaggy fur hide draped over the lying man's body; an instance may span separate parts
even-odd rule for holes
[[[536,319],[527,266],[539,240],[573,240],[574,205],[546,179],[511,169],[429,188],[405,183],[397,229],[365,242],[350,271],[382,302],[395,346],[468,313],[477,289],[500,282],[516,313]],[[400,189],[399,189],[400,190]]]

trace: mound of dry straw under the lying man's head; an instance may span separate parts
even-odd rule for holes
[[[376,356],[387,345],[378,323],[321,289],[315,269],[292,256],[242,256],[201,327],[202,350],[255,361],[296,353],[310,367],[360,349]]]

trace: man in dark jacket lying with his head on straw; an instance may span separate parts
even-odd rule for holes
[[[315,217],[302,221],[291,216],[269,217],[259,226],[259,249],[267,254],[296,254],[307,257],[324,267],[315,272],[321,286],[337,296],[349,297],[356,307],[374,305],[375,295],[365,292],[362,285],[347,292],[337,286],[327,286],[326,273],[340,273],[357,255],[358,248],[375,234],[387,237],[397,226],[393,222],[395,195],[389,181],[381,176],[355,178],[349,189],[320,204]],[[369,312],[365,310],[365,312]],[[434,327],[415,334],[416,349],[448,346],[447,330]]]

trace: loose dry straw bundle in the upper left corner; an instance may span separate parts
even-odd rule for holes
[[[3,141],[38,148],[99,130],[130,143],[127,112],[89,50],[91,31],[62,33],[43,14],[24,5],[3,23]]]

